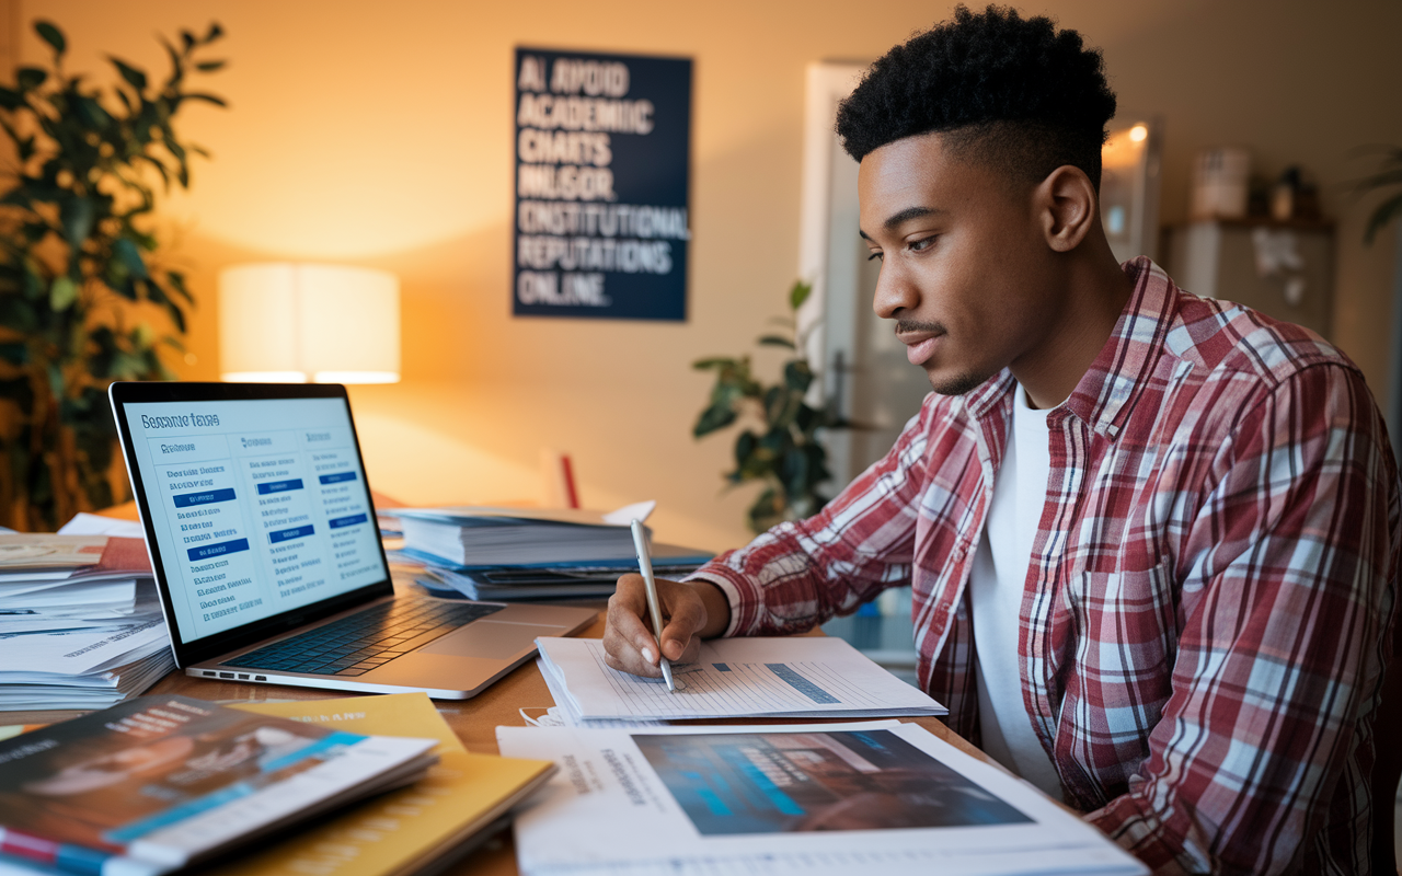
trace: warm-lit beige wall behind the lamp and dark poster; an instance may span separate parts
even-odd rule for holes
[[[798,249],[803,66],[871,59],[946,3],[471,3],[461,0],[10,0],[21,59],[46,17],[70,64],[160,69],[156,32],[229,31],[231,67],[184,130],[210,147],[165,221],[202,306],[188,378],[217,376],[215,273],[251,259],[365,264],[404,285],[404,383],[352,390],[373,484],[414,503],[534,498],[541,447],[573,454],[586,505],[656,498],[669,541],[744,537],[722,493],[729,439],[693,442],[705,376],[782,313]],[[1186,209],[1202,146],[1302,163],[1340,219],[1338,341],[1385,385],[1391,251],[1363,249],[1342,184],[1366,143],[1402,143],[1402,4],[1067,0],[1050,11],[1103,46],[1126,108],[1166,122],[1164,217]],[[510,317],[512,48],[695,59],[693,266],[686,324]]]

